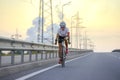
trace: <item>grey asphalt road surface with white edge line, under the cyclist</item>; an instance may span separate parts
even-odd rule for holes
[[[74,60],[67,61],[65,68],[57,64],[23,76],[15,77],[14,79],[120,80],[120,58],[117,55],[114,53],[90,53]],[[7,79],[1,78],[0,80]],[[10,80],[10,77],[8,80]]]

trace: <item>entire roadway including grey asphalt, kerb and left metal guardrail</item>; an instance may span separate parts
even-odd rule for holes
[[[57,46],[0,38],[0,80],[120,80],[119,52],[69,51],[62,68]]]

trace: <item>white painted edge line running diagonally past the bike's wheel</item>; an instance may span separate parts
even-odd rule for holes
[[[87,55],[84,55],[84,56],[80,56],[80,57],[78,57],[78,58],[74,58],[74,59],[68,60],[68,61],[66,61],[65,63],[68,63],[68,62],[71,62],[71,61],[74,61],[74,60],[77,60],[77,59],[80,59],[80,58],[84,58],[84,57],[87,57],[87,56],[89,56],[89,55],[91,55],[91,53],[90,53],[90,54],[87,54]],[[56,65],[53,65],[53,66],[51,66],[51,67],[48,67],[48,68],[45,68],[45,69],[42,69],[42,70],[39,70],[39,71],[30,73],[30,74],[28,74],[28,75],[25,75],[25,76],[23,76],[23,77],[17,78],[17,79],[15,79],[15,80],[25,80],[25,79],[28,79],[28,78],[30,78],[30,77],[33,77],[33,76],[35,76],[35,75],[37,75],[37,74],[40,74],[40,73],[43,73],[43,72],[48,71],[48,70],[50,70],[50,69],[53,69],[53,68],[55,68],[55,67],[57,67],[57,66],[60,66],[60,65],[61,65],[61,64],[56,64]]]

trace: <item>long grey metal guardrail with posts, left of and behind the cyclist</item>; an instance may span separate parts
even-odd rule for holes
[[[70,52],[89,52],[69,48]],[[8,56],[2,53],[7,52]],[[0,37],[0,67],[58,57],[58,47]]]

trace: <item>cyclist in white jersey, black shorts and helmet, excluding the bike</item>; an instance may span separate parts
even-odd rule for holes
[[[68,41],[65,38],[68,38]],[[55,44],[57,44],[58,41],[58,47],[59,47],[59,64],[62,61],[62,39],[65,39],[65,46],[66,46],[66,54],[68,54],[68,43],[70,43],[70,32],[69,29],[66,27],[66,23],[64,21],[60,22],[60,28],[58,29]]]

